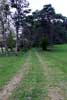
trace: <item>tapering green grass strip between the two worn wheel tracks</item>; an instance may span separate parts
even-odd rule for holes
[[[31,51],[29,72],[9,100],[42,100],[47,96],[43,68],[34,51]]]

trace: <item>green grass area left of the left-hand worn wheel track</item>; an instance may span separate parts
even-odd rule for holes
[[[27,54],[23,52],[18,56],[0,57],[0,89],[7,84],[12,76],[21,68]]]

